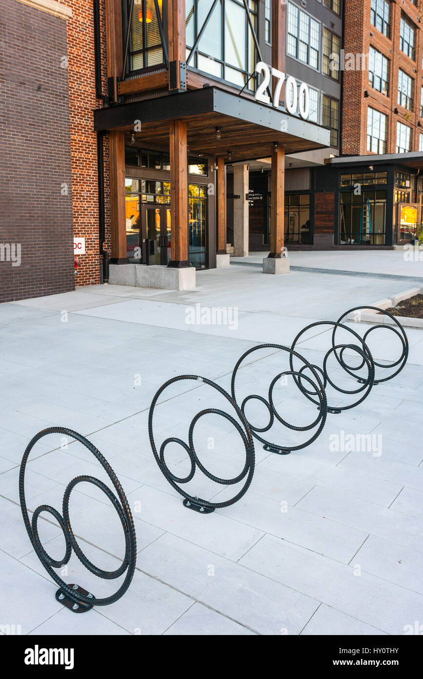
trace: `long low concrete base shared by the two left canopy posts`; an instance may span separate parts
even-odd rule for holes
[[[181,269],[167,266],[145,266],[143,264],[111,264],[110,285],[130,285],[137,288],[158,288],[164,290],[195,290],[196,270],[194,266]]]

